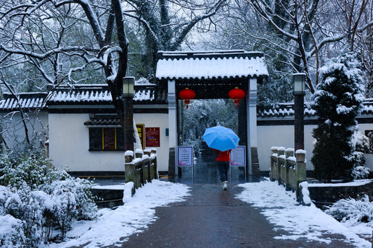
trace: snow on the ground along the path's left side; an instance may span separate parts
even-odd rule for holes
[[[86,248],[95,248],[115,245],[155,221],[155,207],[184,201],[189,195],[187,185],[153,180],[137,189],[132,198],[125,197],[123,206],[115,210],[100,209],[99,218],[95,221],[74,223],[73,229],[66,235],[68,241],[47,246],[62,248],[85,245]]]

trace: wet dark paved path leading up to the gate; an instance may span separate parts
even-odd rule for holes
[[[206,161],[205,161],[206,162]],[[209,163],[204,166],[210,167]],[[157,220],[140,234],[134,234],[122,244],[127,248],[246,248],[246,247],[352,247],[343,241],[331,244],[307,240],[278,240],[275,236],[286,234],[274,231],[260,214],[234,196],[242,191],[237,183],[245,183],[243,171],[232,173],[227,191],[222,191],[215,167],[202,169],[204,178],[193,172],[184,173],[177,181],[191,186],[187,201],[172,203],[169,207],[155,208]],[[195,168],[198,170],[201,168]],[[186,169],[187,170],[187,169]],[[236,173],[236,174],[235,174]],[[248,178],[260,180],[260,178]],[[205,180],[208,183],[202,183]],[[342,238],[341,236],[330,238]]]

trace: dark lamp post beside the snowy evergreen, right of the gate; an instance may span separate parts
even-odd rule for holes
[[[295,150],[305,148],[305,73],[293,74],[294,83],[294,148]]]

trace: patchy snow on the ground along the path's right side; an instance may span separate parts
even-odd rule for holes
[[[278,182],[264,180],[260,183],[245,183],[238,186],[245,190],[236,198],[253,203],[254,207],[260,207],[269,223],[275,225],[276,229],[289,233],[276,237],[278,239],[307,238],[328,244],[331,240],[323,238],[323,234],[342,234],[347,242],[356,247],[372,247],[370,242],[354,233],[358,231],[359,234],[372,234],[371,227],[359,225],[351,229],[325,214],[314,204],[310,207],[298,205],[296,194],[285,191],[285,187],[278,185]]]

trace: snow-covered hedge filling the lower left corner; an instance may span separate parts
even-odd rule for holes
[[[73,220],[97,217],[91,183],[49,163],[38,154],[0,155],[0,247],[40,247],[64,239]]]

